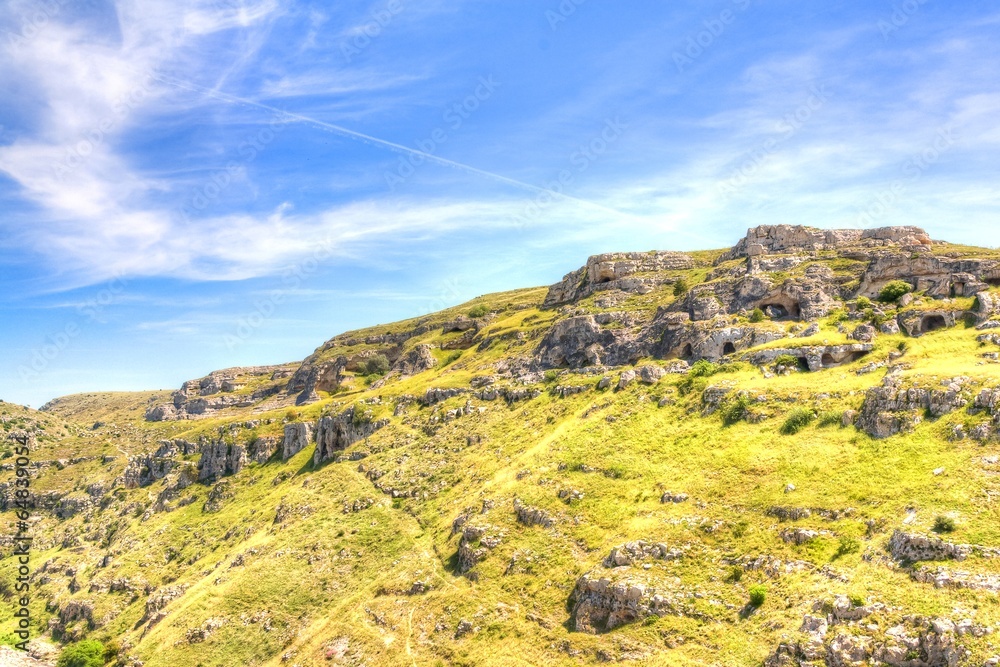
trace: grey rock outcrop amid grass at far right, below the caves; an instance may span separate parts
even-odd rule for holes
[[[904,386],[902,378],[889,373],[882,385],[865,394],[857,427],[873,438],[888,438],[912,430],[923,414],[941,417],[965,407],[969,398],[962,390],[967,378],[946,380],[941,388]]]

